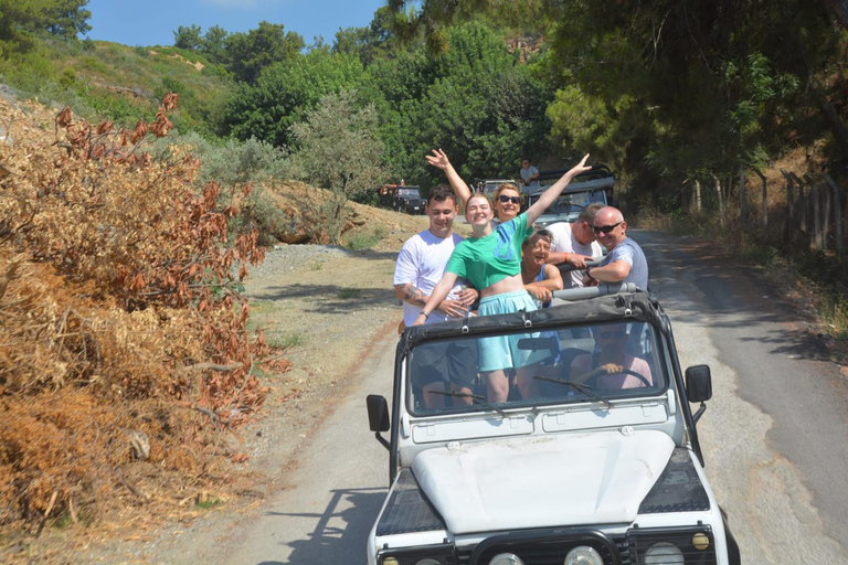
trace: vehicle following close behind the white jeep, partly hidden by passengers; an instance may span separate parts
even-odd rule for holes
[[[539,200],[539,196],[565,172],[568,169],[540,171],[539,182],[541,186],[528,193],[527,205],[530,206]],[[615,177],[610,168],[605,164],[596,164],[592,167],[591,171],[579,174],[533,225],[539,228],[555,222],[574,222],[580,212],[594,202],[600,202],[605,206],[613,205],[614,185]]]

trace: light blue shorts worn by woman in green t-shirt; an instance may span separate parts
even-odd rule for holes
[[[479,316],[492,316],[498,313],[512,313],[524,310],[537,310],[536,300],[526,290],[504,292],[502,295],[488,296],[480,300]],[[479,347],[480,372],[498,371],[501,369],[518,369],[539,363],[550,356],[547,350],[533,351],[519,349],[519,340],[538,338],[540,332],[517,333],[512,335],[498,335],[497,338],[480,338]]]

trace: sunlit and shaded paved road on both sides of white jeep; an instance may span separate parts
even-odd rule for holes
[[[746,564],[848,563],[848,384],[794,331],[804,321],[744,269],[697,244],[633,234],[651,289],[675,328],[681,364],[712,367],[699,424],[719,500]],[[290,475],[289,488],[245,520],[220,563],[361,564],[388,481],[388,455],[368,431],[364,396],[390,396],[395,338],[363,364]],[[225,557],[224,557],[225,556]]]

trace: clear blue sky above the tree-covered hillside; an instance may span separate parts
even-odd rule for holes
[[[324,35],[332,44],[339,28],[371,23],[385,0],[88,0],[92,12],[86,36],[124,45],[172,45],[180,25],[212,25],[229,32],[256,29],[261,21],[282,23],[306,44]]]

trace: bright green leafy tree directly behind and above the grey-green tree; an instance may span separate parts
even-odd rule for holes
[[[239,85],[226,100],[220,129],[242,140],[256,137],[288,146],[290,126],[322,96],[356,88],[361,79],[362,64],[356,56],[312,50],[266,68],[255,85]]]

